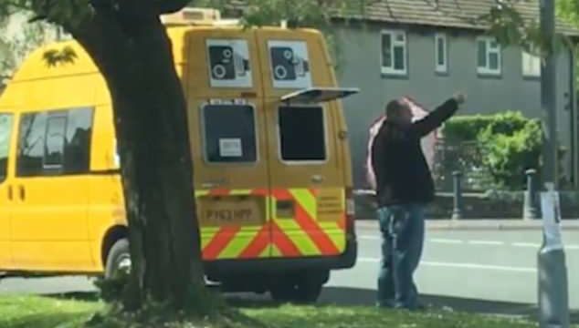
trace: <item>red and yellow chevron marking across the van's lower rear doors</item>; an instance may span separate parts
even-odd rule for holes
[[[296,258],[341,254],[345,250],[345,205],[342,204],[340,214],[336,215],[335,219],[319,220],[321,216],[318,195],[326,191],[311,189],[277,189],[271,192],[265,189],[196,191],[197,198],[263,196],[268,207],[267,220],[263,225],[202,226],[204,260]],[[334,197],[336,200],[343,199],[343,190],[330,191],[332,195],[337,195]],[[278,201],[290,201],[293,204],[292,217],[278,217],[276,212]]]

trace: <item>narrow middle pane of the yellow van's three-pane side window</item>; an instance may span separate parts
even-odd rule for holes
[[[64,162],[65,131],[67,129],[67,114],[51,114],[47,120],[47,136],[45,137],[44,163],[46,171],[62,169]]]

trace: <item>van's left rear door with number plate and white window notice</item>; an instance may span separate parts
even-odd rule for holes
[[[268,143],[250,30],[188,36],[188,119],[205,261],[270,255]]]

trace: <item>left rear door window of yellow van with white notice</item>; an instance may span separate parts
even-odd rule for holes
[[[258,160],[254,108],[247,105],[206,105],[203,109],[205,159],[211,163]]]

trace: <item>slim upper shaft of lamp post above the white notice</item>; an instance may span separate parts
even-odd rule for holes
[[[541,67],[542,106],[542,182],[558,184],[557,179],[557,91],[555,57],[555,0],[541,0],[541,31],[545,40],[544,61]]]

